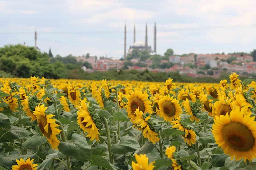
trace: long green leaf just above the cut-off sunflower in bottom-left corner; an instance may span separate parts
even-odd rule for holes
[[[27,154],[27,155],[0,155],[0,166],[7,166],[11,167],[12,165],[17,165],[16,159],[25,159],[25,158],[31,158],[34,159],[36,158],[36,153],[34,154]]]

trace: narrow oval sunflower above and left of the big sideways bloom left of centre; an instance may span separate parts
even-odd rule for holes
[[[78,90],[78,87],[76,84],[73,82],[72,84],[69,83],[68,86],[68,98],[69,101],[74,105],[74,107],[77,107],[80,105],[80,99],[81,93]]]

